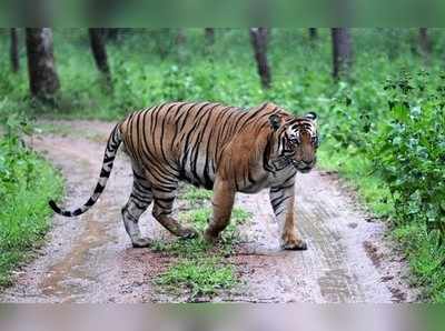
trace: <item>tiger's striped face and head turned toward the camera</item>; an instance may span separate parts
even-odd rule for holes
[[[303,173],[309,172],[317,161],[317,114],[308,112],[303,117],[284,119],[275,113],[269,117],[269,122],[277,134],[278,163],[293,165]]]

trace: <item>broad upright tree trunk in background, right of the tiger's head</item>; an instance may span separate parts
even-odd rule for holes
[[[349,29],[333,28],[330,32],[333,38],[333,77],[337,80],[343,74],[348,73],[353,61],[353,51]]]

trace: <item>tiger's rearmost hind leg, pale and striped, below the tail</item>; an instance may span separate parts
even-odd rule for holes
[[[130,198],[122,208],[122,220],[125,229],[130,237],[134,248],[150,245],[151,240],[142,238],[139,229],[139,218],[147,210],[152,201],[150,183],[144,177],[134,172],[134,184]]]

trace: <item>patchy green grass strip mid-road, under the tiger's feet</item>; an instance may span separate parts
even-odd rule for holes
[[[210,217],[211,209],[200,207],[181,213],[179,219],[204,231]],[[211,297],[218,291],[229,290],[239,282],[235,268],[226,259],[238,238],[235,223],[245,223],[250,218],[251,213],[234,208],[231,224],[222,232],[217,247],[208,244],[202,237],[170,243],[155,242],[151,247],[154,251],[167,252],[178,259],[154,282],[175,293],[187,291],[190,299],[198,295]]]

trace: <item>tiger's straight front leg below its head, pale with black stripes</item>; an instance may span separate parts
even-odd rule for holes
[[[279,187],[273,187],[269,191],[270,203],[275,217],[283,227],[281,245],[285,250],[306,250],[307,244],[303,241],[295,229],[295,182],[286,182]]]

